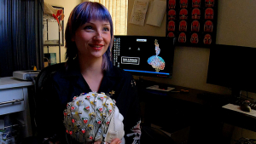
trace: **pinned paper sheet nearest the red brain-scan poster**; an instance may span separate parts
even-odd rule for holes
[[[166,14],[166,1],[154,0],[148,10],[148,19],[146,24],[161,26],[162,20]]]

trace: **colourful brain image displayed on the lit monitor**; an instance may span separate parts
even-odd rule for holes
[[[163,60],[160,56],[160,47],[157,39],[154,40],[154,50],[155,50],[155,55],[150,56],[148,58],[148,64],[151,65],[154,69],[155,72],[159,72],[160,70],[164,70],[166,63],[165,60]]]

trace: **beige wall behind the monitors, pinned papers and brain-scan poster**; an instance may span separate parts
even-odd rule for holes
[[[152,2],[153,0],[149,0]],[[128,21],[134,0],[129,0]],[[217,43],[241,45],[256,48],[255,13],[256,1],[219,0]],[[147,20],[147,19],[146,19]],[[157,26],[137,26],[128,23],[128,35],[166,36],[166,20]],[[210,49],[196,47],[177,47],[174,51],[173,78],[153,78],[154,81],[184,87],[207,90],[219,94],[230,94],[230,89],[207,84],[207,66]],[[147,79],[147,78],[145,78]],[[152,79],[152,78],[150,78]]]

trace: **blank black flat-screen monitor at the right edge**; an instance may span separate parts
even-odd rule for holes
[[[256,48],[215,45],[210,49],[207,83],[256,92]],[[239,95],[239,94],[236,94]]]

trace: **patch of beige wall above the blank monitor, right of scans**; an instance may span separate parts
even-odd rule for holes
[[[256,1],[218,1],[217,43],[256,48]]]

